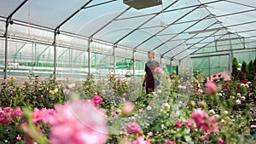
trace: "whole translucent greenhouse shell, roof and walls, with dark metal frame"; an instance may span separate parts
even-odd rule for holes
[[[198,70],[211,78],[230,75],[235,57],[255,59],[255,1],[158,2],[136,9],[122,0],[1,0],[1,74],[141,77],[153,49],[170,73]]]

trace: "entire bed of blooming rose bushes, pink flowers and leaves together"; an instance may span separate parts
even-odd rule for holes
[[[226,80],[221,74],[212,81],[202,81],[201,77],[190,81],[187,76],[169,76],[160,70],[161,83],[150,95],[145,94],[142,79],[115,78],[114,74],[109,74],[108,79],[90,77],[84,84],[58,84],[49,78],[48,82],[31,79],[20,86],[10,79],[2,84],[2,111],[6,107],[21,107],[26,121],[2,124],[5,132],[15,128],[12,132],[15,136],[2,135],[3,141],[109,144],[255,141],[251,132],[255,129],[255,82],[246,78]],[[30,111],[24,107],[30,107]],[[1,118],[16,117],[8,114]],[[20,132],[20,126],[25,133]],[[65,132],[69,130],[73,133]]]

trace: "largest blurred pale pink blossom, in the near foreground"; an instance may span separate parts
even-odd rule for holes
[[[102,144],[108,141],[105,113],[88,101],[69,101],[55,107],[55,116],[49,116],[51,144]]]

